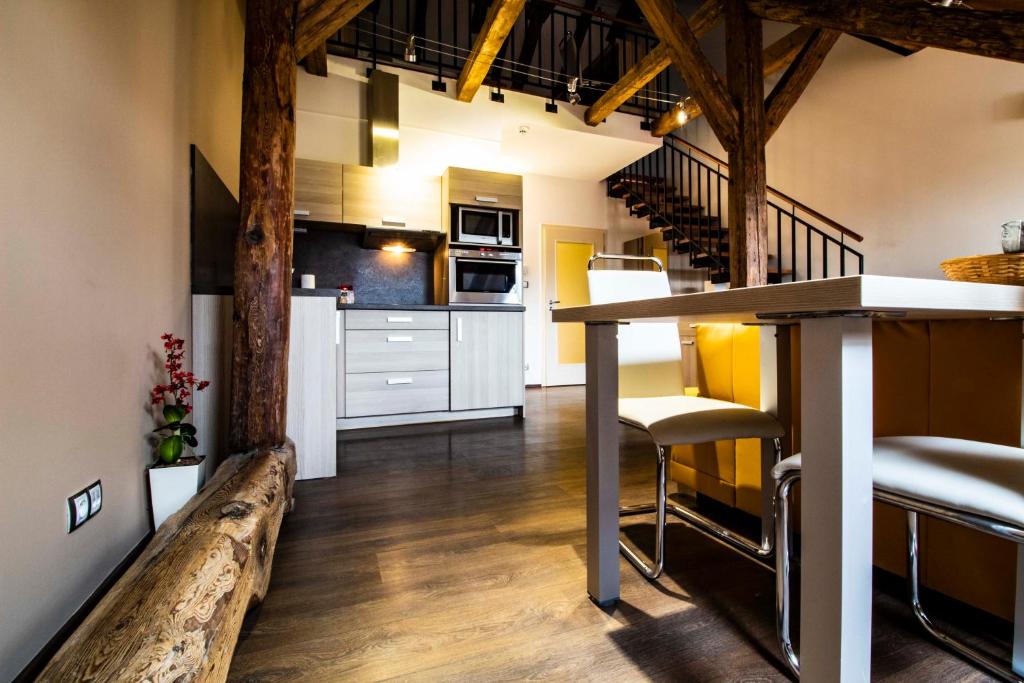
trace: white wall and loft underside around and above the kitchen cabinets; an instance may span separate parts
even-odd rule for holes
[[[331,57],[330,77],[300,70],[296,115],[296,156],[345,164],[367,163],[365,70],[367,65]],[[621,201],[605,195],[603,178],[657,147],[640,120],[612,115],[590,128],[583,108],[559,103],[544,112],[544,100],[515,92],[492,102],[482,89],[469,104],[430,89],[430,76],[394,71],[399,86],[399,163],[403,169],[440,175],[449,166],[518,173],[523,176],[524,328],[527,384],[544,378],[545,322],[549,318],[542,281],[541,226],[573,225],[608,230],[608,248],[645,233],[647,222],[631,218]],[[529,126],[526,135],[519,125]],[[557,176],[551,173],[562,173]],[[570,175],[571,177],[566,177]]]

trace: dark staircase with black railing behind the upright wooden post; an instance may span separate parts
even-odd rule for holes
[[[691,268],[729,282],[728,165],[675,135],[607,179],[608,196],[647,218]],[[864,272],[849,246],[863,238],[768,187],[768,282],[778,284]]]

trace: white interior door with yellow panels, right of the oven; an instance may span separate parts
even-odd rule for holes
[[[605,230],[545,225],[544,293],[549,309],[590,303],[587,262],[605,249]],[[544,384],[560,386],[586,382],[583,324],[555,325],[545,319]]]

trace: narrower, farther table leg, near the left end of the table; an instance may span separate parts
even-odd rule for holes
[[[618,599],[618,326],[587,324],[587,591]]]

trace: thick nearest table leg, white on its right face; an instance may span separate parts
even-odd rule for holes
[[[871,321],[801,323],[800,658],[804,681],[871,666]]]

